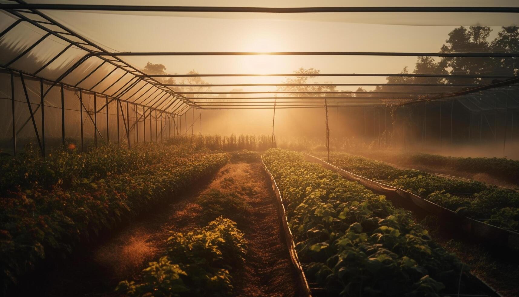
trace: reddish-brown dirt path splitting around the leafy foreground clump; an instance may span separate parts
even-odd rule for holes
[[[166,250],[170,230],[186,232],[208,223],[197,200],[215,190],[239,197],[251,206],[245,215],[226,214],[225,210],[222,214],[236,221],[249,241],[246,265],[235,276],[237,295],[298,295],[295,270],[282,241],[276,198],[268,183],[261,163],[227,164],[212,180],[194,185],[170,204],[159,205],[153,213],[130,222],[115,235],[105,236],[95,247],[84,247],[64,263],[38,270],[23,282],[20,295],[116,295],[114,289],[119,281],[137,276]]]

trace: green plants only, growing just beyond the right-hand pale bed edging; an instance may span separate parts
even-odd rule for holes
[[[316,153],[324,157],[322,153]],[[379,161],[347,153],[330,154],[341,169],[415,193],[431,202],[485,223],[519,231],[519,192],[475,180],[440,177],[416,170],[400,170]]]

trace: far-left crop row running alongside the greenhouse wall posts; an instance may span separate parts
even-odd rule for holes
[[[5,197],[6,191],[18,189],[68,188],[80,178],[97,180],[157,164],[165,157],[188,156],[193,150],[188,145],[149,144],[131,149],[100,146],[83,153],[71,147],[53,150],[43,158],[29,144],[16,157],[0,157],[0,197]]]

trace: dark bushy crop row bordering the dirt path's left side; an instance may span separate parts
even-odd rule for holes
[[[160,162],[108,178],[76,179],[69,189],[11,192],[0,200],[2,280],[7,287],[43,259],[60,258],[122,220],[168,199],[229,160],[227,153],[170,154]],[[5,288],[4,288],[5,289]]]

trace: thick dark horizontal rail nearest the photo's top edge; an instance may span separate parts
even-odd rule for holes
[[[151,6],[92,4],[1,4],[0,9],[174,11],[174,12],[263,12],[300,14],[310,12],[501,12],[517,13],[519,7],[235,7],[235,6]]]

